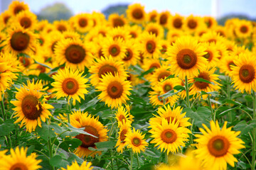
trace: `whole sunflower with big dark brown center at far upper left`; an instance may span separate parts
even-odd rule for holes
[[[26,53],[27,55],[33,53],[33,46],[36,42],[36,34],[30,30],[25,30],[21,26],[14,25],[9,29],[6,46],[4,50],[11,52],[14,55],[19,53]]]

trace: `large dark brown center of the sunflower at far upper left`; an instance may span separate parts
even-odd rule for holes
[[[29,35],[19,31],[11,36],[11,47],[16,51],[26,50],[29,44],[29,40]]]

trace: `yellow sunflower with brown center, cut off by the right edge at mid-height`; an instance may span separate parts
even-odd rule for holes
[[[231,66],[233,69],[231,74],[233,75],[233,84],[235,89],[247,93],[251,93],[251,90],[256,91],[256,63],[255,55],[251,52],[241,53],[238,59],[234,60],[235,66]]]

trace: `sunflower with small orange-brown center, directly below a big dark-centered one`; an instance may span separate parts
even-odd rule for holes
[[[80,73],[79,69],[75,72],[72,68],[65,67],[64,70],[59,69],[58,74],[53,75],[55,80],[51,85],[55,87],[54,91],[57,91],[55,96],[58,98],[68,97],[73,98],[73,105],[75,101],[80,102],[80,97],[85,99],[85,94],[88,93],[86,84],[88,79],[82,76],[83,72]]]

